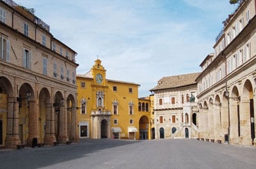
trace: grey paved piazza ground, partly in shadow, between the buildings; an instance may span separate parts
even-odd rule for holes
[[[256,149],[176,140],[92,140],[56,147],[0,150],[0,168],[256,168]]]

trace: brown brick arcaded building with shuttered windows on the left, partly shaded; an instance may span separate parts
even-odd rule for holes
[[[0,1],[0,146],[76,141],[76,52],[33,10]]]

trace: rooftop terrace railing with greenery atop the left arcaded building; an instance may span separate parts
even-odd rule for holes
[[[34,13],[33,13],[33,9],[26,9],[26,8],[24,8],[24,7],[22,7],[22,6],[20,6],[19,4],[17,4],[17,3],[15,3],[14,1],[12,1],[12,0],[2,0],[2,1],[4,1],[4,3],[6,3],[6,4],[8,4],[8,5],[10,5],[10,6],[12,6],[13,8],[15,8],[16,10],[18,10],[19,9],[19,11],[20,10],[23,10],[23,11],[26,11],[27,13],[29,13],[28,15],[26,15],[26,14],[24,14],[24,15],[26,15],[29,19],[31,19],[35,24],[37,24],[38,26],[40,26],[40,27],[43,27],[45,30],[47,30],[47,31],[50,31],[50,26],[48,25],[48,24],[46,24],[43,20],[41,20],[40,18],[38,18],[38,17],[36,17],[35,15],[34,15]],[[18,8],[18,7],[20,7],[20,8]],[[23,8],[23,9],[22,9]],[[26,10],[25,10],[26,9]],[[31,16],[31,17],[30,17]]]

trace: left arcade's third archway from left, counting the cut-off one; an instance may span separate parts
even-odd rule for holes
[[[51,133],[51,96],[46,88],[39,94],[39,130],[41,142],[45,143],[45,136]]]

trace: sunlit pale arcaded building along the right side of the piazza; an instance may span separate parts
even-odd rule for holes
[[[255,1],[241,1],[223,24],[196,79],[200,138],[255,145]]]

